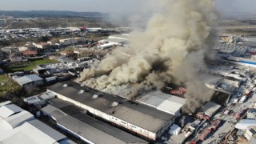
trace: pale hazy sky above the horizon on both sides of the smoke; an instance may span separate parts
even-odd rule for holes
[[[159,0],[0,0],[0,10],[72,10],[121,12],[154,8]],[[224,13],[256,12],[256,0],[215,0]]]

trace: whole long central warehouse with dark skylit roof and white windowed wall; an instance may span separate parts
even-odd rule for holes
[[[89,114],[151,140],[156,140],[169,129],[175,118],[173,114],[80,86],[75,82],[59,82],[47,90],[62,100],[80,106]]]

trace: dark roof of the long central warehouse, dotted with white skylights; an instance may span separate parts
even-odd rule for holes
[[[86,106],[113,115],[145,130],[158,132],[166,122],[174,118],[174,115],[156,110],[150,106],[129,102],[125,98],[92,90],[75,82],[70,82],[66,87],[63,87],[64,84],[65,82],[59,82],[50,86],[48,90],[62,94],[74,101],[82,102]]]

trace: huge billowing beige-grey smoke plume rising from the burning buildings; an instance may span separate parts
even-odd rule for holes
[[[134,98],[166,83],[186,84],[186,109],[194,111],[212,91],[198,78],[210,49],[216,17],[210,0],[162,0],[143,32],[130,34],[130,47],[114,50],[84,70],[86,86]]]

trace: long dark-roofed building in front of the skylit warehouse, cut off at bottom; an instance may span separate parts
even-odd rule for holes
[[[101,122],[84,113],[84,109],[71,102],[54,98],[50,105],[42,108],[42,112],[53,118],[59,127],[82,139],[87,143],[147,143],[106,122]]]

